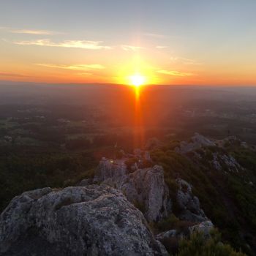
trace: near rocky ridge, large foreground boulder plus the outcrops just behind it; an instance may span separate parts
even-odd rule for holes
[[[169,230],[154,238],[148,228],[147,221],[159,222],[172,212],[164,170],[143,167],[148,161],[149,154],[140,150],[121,159],[102,158],[94,178],[78,187],[37,189],[15,197],[0,217],[0,254],[167,255],[162,238],[188,234]],[[181,178],[176,183],[178,217],[200,223],[191,230],[213,227],[191,184]]]

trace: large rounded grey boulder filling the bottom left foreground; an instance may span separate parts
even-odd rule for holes
[[[116,189],[50,188],[15,197],[0,216],[0,255],[167,255]]]

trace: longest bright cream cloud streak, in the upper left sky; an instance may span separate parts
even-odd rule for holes
[[[61,48],[80,48],[87,50],[108,50],[110,46],[102,45],[101,41],[86,41],[86,40],[65,40],[63,42],[53,42],[50,39],[38,39],[29,41],[15,41],[15,45],[39,45]]]

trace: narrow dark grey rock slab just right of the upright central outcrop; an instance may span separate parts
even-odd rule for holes
[[[197,197],[192,195],[192,186],[181,178],[176,180],[179,189],[177,192],[177,203],[181,208],[179,217],[191,222],[203,222],[208,218],[200,208],[200,202]]]

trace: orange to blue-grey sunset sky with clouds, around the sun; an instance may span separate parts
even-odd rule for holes
[[[256,85],[255,0],[2,0],[0,80]]]

